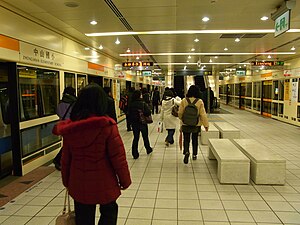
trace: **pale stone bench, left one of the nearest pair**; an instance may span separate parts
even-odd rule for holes
[[[229,139],[209,139],[208,147],[208,158],[218,160],[220,183],[249,183],[250,160]]]

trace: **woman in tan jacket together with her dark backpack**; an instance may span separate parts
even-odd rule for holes
[[[196,85],[190,86],[186,98],[181,101],[178,117],[182,121],[183,133],[183,162],[187,164],[190,156],[190,139],[192,135],[193,160],[197,159],[198,154],[198,135],[201,125],[208,131],[208,120],[204,108],[204,103],[200,99],[200,89]]]

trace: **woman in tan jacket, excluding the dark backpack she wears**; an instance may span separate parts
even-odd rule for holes
[[[195,99],[197,99],[197,102],[195,103],[195,105],[198,109],[198,116],[199,116],[198,124],[194,127],[191,127],[191,126],[187,126],[182,121],[183,124],[182,124],[181,130],[183,132],[183,154],[184,154],[183,162],[185,164],[187,164],[189,162],[189,156],[190,156],[189,147],[190,147],[191,135],[192,135],[192,145],[193,145],[193,160],[196,160],[197,154],[198,154],[198,135],[201,130],[201,125],[204,126],[206,131],[208,131],[208,126],[209,126],[208,119],[207,119],[207,115],[205,112],[204,103],[200,99],[200,97],[201,97],[201,93],[200,93],[198,86],[192,85],[192,86],[190,86],[190,88],[188,90],[186,98],[184,98],[181,101],[181,104],[179,106],[178,117],[182,121],[185,107],[188,106],[187,98],[189,98],[189,100],[191,102],[193,102]]]

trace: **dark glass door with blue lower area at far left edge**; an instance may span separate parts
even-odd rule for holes
[[[12,172],[8,69],[0,63],[0,178]]]

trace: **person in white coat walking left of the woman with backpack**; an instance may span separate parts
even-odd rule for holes
[[[168,135],[165,139],[165,144],[168,147],[169,144],[174,144],[174,133],[176,126],[178,125],[177,117],[172,115],[172,109],[174,106],[179,106],[181,99],[179,97],[174,98],[173,92],[170,90],[165,91],[164,98],[161,105],[160,121],[163,122]]]

